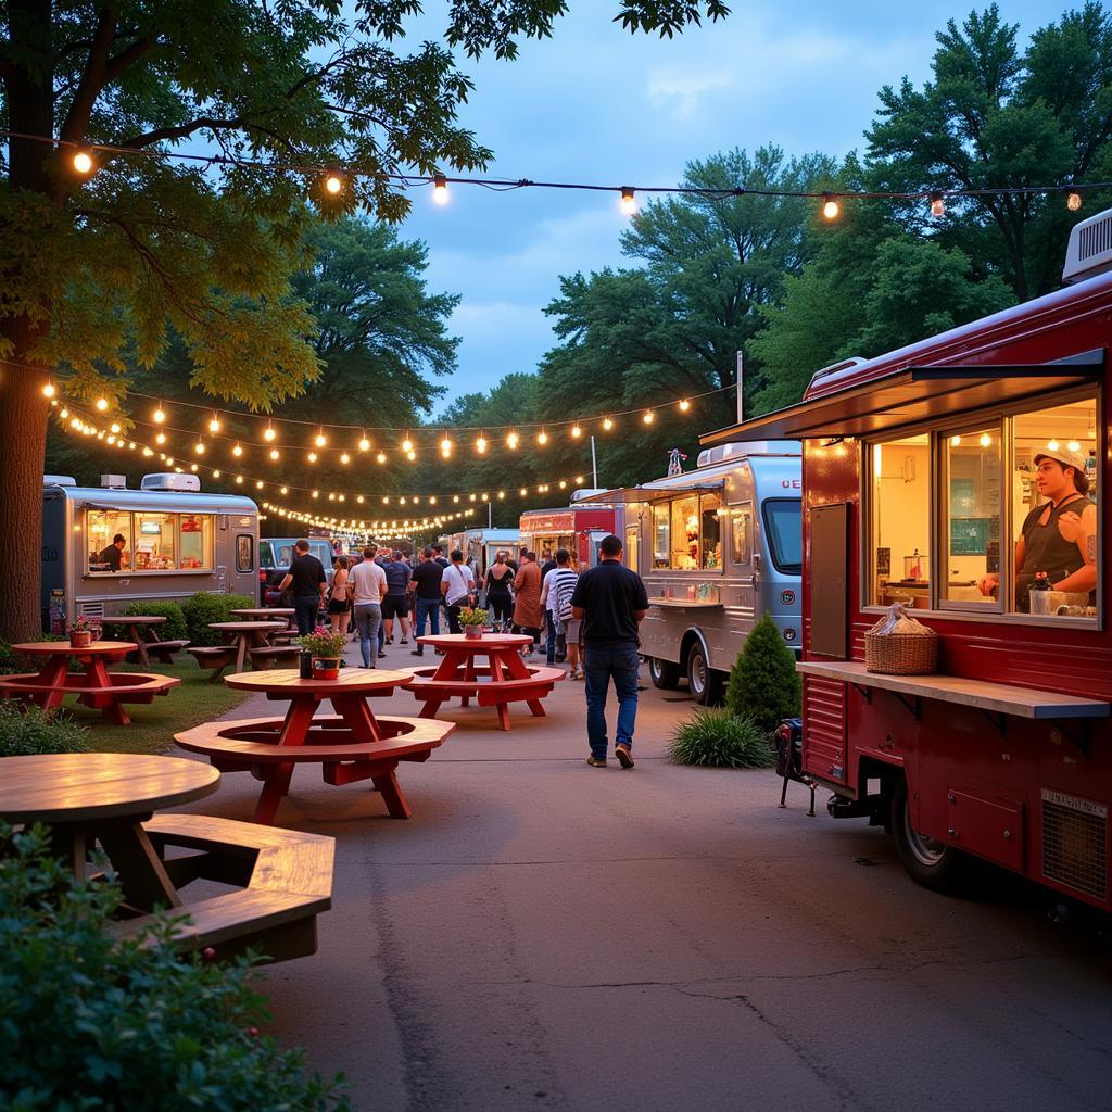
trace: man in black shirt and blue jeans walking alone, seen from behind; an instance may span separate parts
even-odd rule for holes
[[[606,767],[606,692],[610,679],[618,696],[614,755],[633,767],[633,731],[637,721],[637,625],[648,612],[645,584],[622,565],[622,542],[604,537],[597,567],[579,576],[572,595],[572,616],[583,619],[583,671],[587,689],[587,741],[593,768]]]

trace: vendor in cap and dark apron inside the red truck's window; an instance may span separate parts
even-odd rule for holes
[[[1035,486],[1050,499],[1027,514],[1015,543],[1015,607],[1031,609],[1030,590],[1036,572],[1045,572],[1051,589],[1070,590],[1095,600],[1096,507],[1085,497],[1089,477],[1080,451],[1056,448],[1034,457]],[[992,595],[999,575],[986,575],[979,587]]]

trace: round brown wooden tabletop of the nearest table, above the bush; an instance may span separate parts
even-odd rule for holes
[[[4,757],[0,815],[9,822],[88,822],[148,814],[211,795],[216,768],[180,757],[53,753]]]

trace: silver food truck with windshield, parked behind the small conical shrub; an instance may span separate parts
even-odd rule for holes
[[[797,648],[801,486],[794,441],[721,444],[695,470],[596,496],[625,508],[625,563],[648,592],[641,642],[656,687],[686,678],[696,702],[718,702],[764,614]]]

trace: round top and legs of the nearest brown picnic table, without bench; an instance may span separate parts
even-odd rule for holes
[[[54,852],[75,875],[85,875],[89,851],[99,842],[129,906],[180,906],[141,823],[163,807],[210,795],[218,770],[181,757],[56,753],[6,757],[3,773],[0,817],[48,825]]]

